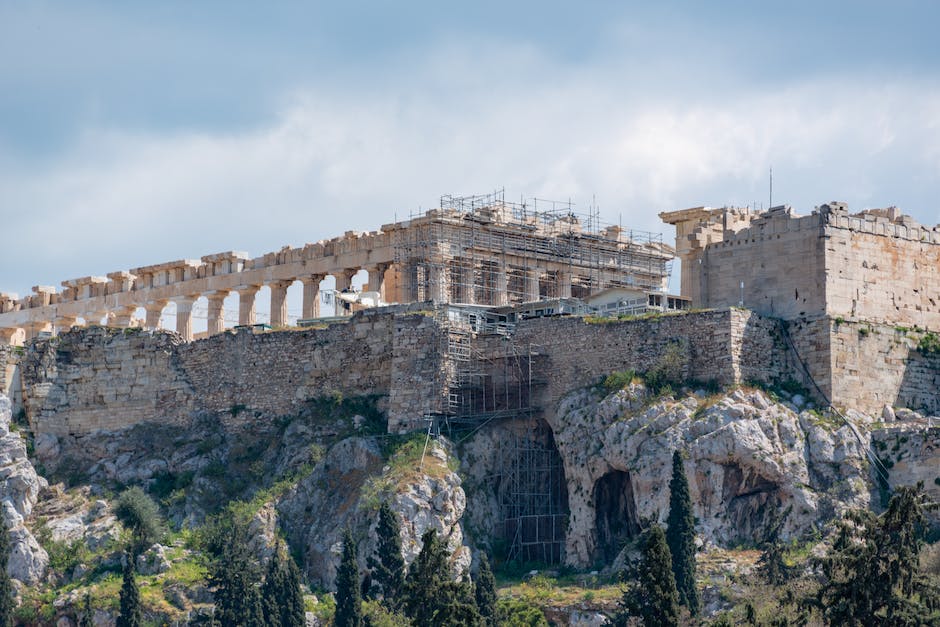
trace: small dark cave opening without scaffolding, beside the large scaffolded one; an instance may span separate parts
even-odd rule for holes
[[[613,561],[623,545],[640,533],[630,473],[611,470],[594,484],[596,556]]]

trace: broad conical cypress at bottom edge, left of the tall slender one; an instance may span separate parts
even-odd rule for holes
[[[628,625],[632,617],[640,617],[646,627],[678,625],[679,595],[672,574],[672,557],[659,525],[647,532],[643,560],[630,575],[634,579],[624,589],[615,624]]]

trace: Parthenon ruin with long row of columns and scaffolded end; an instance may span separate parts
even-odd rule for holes
[[[69,279],[61,290],[35,286],[23,298],[0,294],[0,341],[20,343],[80,324],[155,329],[171,302],[176,331],[191,340],[198,299],[208,303],[213,335],[225,330],[224,301],[232,293],[238,324],[254,324],[262,286],[270,288],[270,324],[281,327],[293,283],[303,284],[301,317],[315,319],[321,281],[332,276],[336,291],[349,291],[362,270],[364,291],[387,303],[495,306],[586,297],[610,287],[665,291],[674,251],[658,234],[602,226],[593,215],[574,214],[570,203],[559,209],[539,202],[507,202],[502,192],[444,196],[440,208],[378,231],[348,231],[254,259],[229,251]]]

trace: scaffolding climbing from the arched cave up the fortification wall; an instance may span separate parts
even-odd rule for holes
[[[544,356],[515,338],[515,324],[482,307],[445,306],[441,347],[444,403],[428,432],[460,441],[494,421],[507,436],[490,477],[510,561],[557,564],[564,554],[567,492],[551,430],[536,419]],[[511,421],[511,422],[510,422]]]

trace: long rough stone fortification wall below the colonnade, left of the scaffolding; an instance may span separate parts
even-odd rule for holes
[[[392,424],[410,423],[441,397],[439,380],[420,376],[435,361],[429,347],[440,345],[439,328],[431,316],[377,311],[325,329],[195,342],[90,327],[29,348],[27,410],[37,434],[65,435],[184,424],[199,412],[244,422],[294,412],[310,398],[375,394],[385,397]]]

